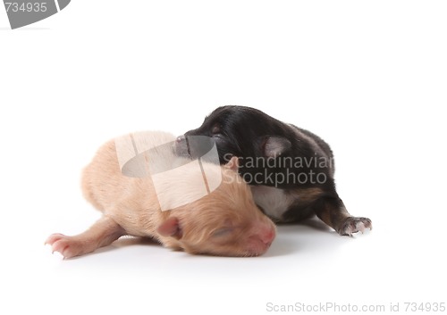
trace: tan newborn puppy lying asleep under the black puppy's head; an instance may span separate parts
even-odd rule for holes
[[[265,253],[274,240],[274,223],[254,203],[237,173],[237,159],[223,167],[201,162],[200,168],[198,161],[176,156],[174,144],[171,134],[146,132],[103,145],[82,175],[83,193],[102,218],[80,235],[54,234],[46,244],[65,258],[124,235],[152,237],[187,253]],[[205,177],[208,186],[215,178],[220,185],[210,191]]]

